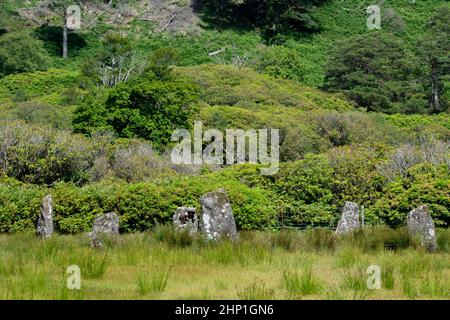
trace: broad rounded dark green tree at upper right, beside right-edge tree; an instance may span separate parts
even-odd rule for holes
[[[373,31],[336,43],[324,87],[345,93],[369,111],[422,113],[427,110],[417,65],[398,38]]]

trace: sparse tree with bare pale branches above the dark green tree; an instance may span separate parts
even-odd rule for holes
[[[83,65],[83,83],[86,87],[114,87],[141,74],[146,64],[128,37],[108,33],[97,55]]]

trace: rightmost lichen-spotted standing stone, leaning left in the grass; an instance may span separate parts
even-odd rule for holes
[[[419,238],[422,246],[430,251],[437,249],[436,229],[426,205],[420,206],[408,213],[406,225],[409,234]]]

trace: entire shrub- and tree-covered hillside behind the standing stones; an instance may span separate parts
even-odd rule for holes
[[[382,30],[367,30],[363,0],[305,1],[272,29],[267,1],[260,24],[230,17],[250,0],[216,13],[214,1],[77,3],[68,59],[69,2],[0,4],[0,232],[33,229],[48,193],[61,233],[110,211],[133,232],[220,187],[241,230],[331,228],[345,201],[369,224],[401,226],[428,204],[448,226],[447,1],[380,1]],[[174,165],[171,133],[195,120],[280,129],[280,171]]]

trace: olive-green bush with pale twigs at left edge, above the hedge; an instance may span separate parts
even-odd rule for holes
[[[0,172],[20,181],[86,182],[92,153],[82,136],[22,122],[0,123]]]

